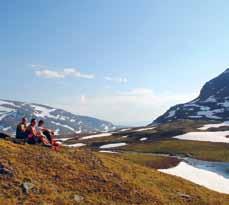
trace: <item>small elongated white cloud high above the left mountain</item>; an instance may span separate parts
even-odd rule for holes
[[[69,76],[84,78],[84,79],[93,79],[93,74],[85,74],[81,73],[79,70],[75,68],[64,68],[63,71],[55,71],[50,69],[51,67],[46,65],[32,64],[32,68],[36,68],[35,75],[43,78],[65,78]]]

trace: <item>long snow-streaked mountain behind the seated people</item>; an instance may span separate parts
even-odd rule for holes
[[[16,125],[22,117],[43,119],[46,126],[58,134],[104,132],[115,129],[110,122],[75,115],[62,109],[34,103],[0,100],[0,131],[15,132]]]

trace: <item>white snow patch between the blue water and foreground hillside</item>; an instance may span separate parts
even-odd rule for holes
[[[159,171],[184,178],[220,193],[229,194],[229,179],[214,172],[193,167],[186,162],[180,162],[176,167]]]

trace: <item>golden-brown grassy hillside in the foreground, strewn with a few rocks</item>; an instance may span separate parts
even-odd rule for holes
[[[219,194],[162,174],[128,156],[0,140],[3,205],[227,205]],[[0,166],[1,167],[1,166]],[[1,170],[1,169],[0,169]],[[9,174],[9,173],[10,174]],[[25,193],[22,184],[32,184]]]

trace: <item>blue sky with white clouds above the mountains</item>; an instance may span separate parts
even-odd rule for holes
[[[119,125],[197,97],[229,62],[228,1],[0,4],[0,98]]]

